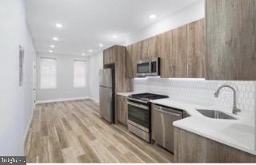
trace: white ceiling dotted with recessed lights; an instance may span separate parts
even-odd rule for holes
[[[38,52],[48,52],[50,45],[55,45],[54,53],[90,55],[110,45],[125,44],[127,35],[197,1],[26,0],[26,19]],[[157,18],[149,19],[150,14]],[[57,22],[62,29],[55,27]],[[118,36],[115,39],[114,34]]]

